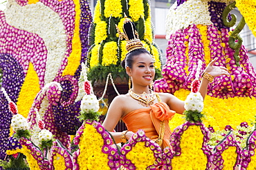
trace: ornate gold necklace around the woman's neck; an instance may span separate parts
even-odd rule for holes
[[[146,94],[145,92],[143,92],[143,94],[136,94],[132,92],[131,89],[129,89],[129,95],[131,98],[138,100],[138,104],[143,105],[144,107],[148,107],[149,105],[152,105],[156,99],[156,93],[151,89],[149,89],[149,91],[150,94]]]

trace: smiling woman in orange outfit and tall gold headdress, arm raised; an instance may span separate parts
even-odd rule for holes
[[[129,40],[127,42],[129,47],[127,47],[127,56],[122,61],[122,67],[131,78],[132,87],[127,94],[116,96],[113,99],[103,127],[108,131],[113,131],[118,121],[122,119],[128,131],[111,132],[117,143],[127,142],[138,129],[143,129],[146,136],[162,148],[170,147],[171,131],[168,122],[175,113],[183,114],[184,102],[172,94],[155,93],[149,89],[155,76],[154,59],[136,37],[135,25],[131,22],[125,24],[129,24],[129,29],[124,29]],[[134,44],[131,45],[131,41],[135,40],[136,43],[133,42]],[[215,60],[205,69],[205,76],[201,80],[199,92],[203,98],[207,91],[209,78],[228,75],[225,67],[213,66],[214,62]]]

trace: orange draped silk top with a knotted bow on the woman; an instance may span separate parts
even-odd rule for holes
[[[136,133],[139,129],[143,129],[145,134],[151,140],[157,140],[161,127],[161,121],[165,123],[165,133],[163,135],[162,149],[170,147],[170,136],[172,134],[169,127],[169,120],[173,118],[175,111],[163,102],[150,105],[149,108],[136,109],[125,115],[122,120],[125,122],[127,129]]]

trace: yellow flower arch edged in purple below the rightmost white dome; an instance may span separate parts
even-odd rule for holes
[[[194,134],[198,138],[194,138]],[[206,169],[210,166],[208,156],[210,156],[210,149],[206,145],[210,139],[210,131],[203,125],[203,123],[190,123],[189,121],[183,123],[174,129],[170,144],[174,150],[174,158],[172,159],[173,169],[182,169],[182,167],[192,168],[200,167]],[[195,154],[196,152],[196,160]],[[188,159],[192,159],[189,161]]]

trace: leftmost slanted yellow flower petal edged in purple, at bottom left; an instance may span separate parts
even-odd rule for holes
[[[21,152],[26,156],[30,169],[49,169],[48,166],[50,163],[48,160],[44,159],[39,148],[35,147],[35,145],[26,138],[21,138],[19,142],[22,146]]]

